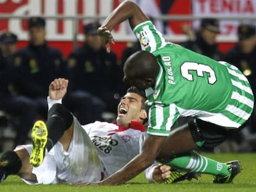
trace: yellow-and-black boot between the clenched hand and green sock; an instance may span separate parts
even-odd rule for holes
[[[184,180],[192,180],[195,178],[198,180],[198,177],[200,177],[200,173],[195,173],[195,172],[180,172],[177,169],[171,170],[171,177],[168,178],[164,183],[177,183],[177,182],[182,182]]]

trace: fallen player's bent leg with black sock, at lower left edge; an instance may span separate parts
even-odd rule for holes
[[[19,148],[15,151],[2,153],[0,158],[0,182],[3,182],[9,175],[19,175],[26,180],[36,181],[26,149]]]

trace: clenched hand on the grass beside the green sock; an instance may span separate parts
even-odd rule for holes
[[[156,183],[163,183],[169,177],[171,177],[171,167],[168,165],[158,165],[153,171],[153,180]]]

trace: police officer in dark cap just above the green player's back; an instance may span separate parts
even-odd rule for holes
[[[188,41],[182,43],[182,46],[216,61],[223,59],[223,53],[216,43],[216,36],[220,32],[217,19],[202,19],[200,29],[196,33],[189,27],[184,27],[183,30],[188,36]]]

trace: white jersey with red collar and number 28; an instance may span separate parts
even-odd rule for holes
[[[146,134],[142,123],[138,122],[132,122],[128,129],[107,122],[95,122],[82,127],[98,150],[105,178],[139,154]]]

